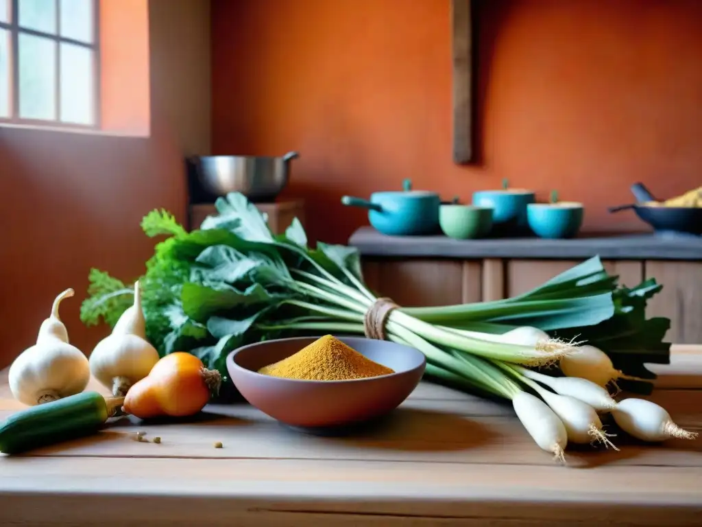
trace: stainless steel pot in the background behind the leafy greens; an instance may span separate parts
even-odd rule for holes
[[[273,201],[285,188],[290,173],[290,161],[298,152],[282,157],[251,155],[194,156],[197,181],[207,193],[221,196],[240,192],[251,202]]]

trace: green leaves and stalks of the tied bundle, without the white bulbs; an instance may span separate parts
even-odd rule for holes
[[[227,377],[227,353],[243,344],[291,334],[363,333],[363,315],[376,294],[364,284],[355,248],[319,242],[312,249],[297,219],[274,235],[265,216],[239,193],[220,197],[216,209],[190,232],[163,210],[141,223],[146,235],[166,236],[139,278],[147,338],[162,356],[188,351]],[[97,269],[89,280],[81,320],[114,326],[131,305],[133,288]],[[632,289],[618,287],[595,256],[518,297],[402,308],[390,315],[388,327],[395,328],[389,330],[392,339],[416,342],[430,364],[451,375],[462,370],[444,349],[512,362],[523,360],[525,350],[498,349],[446,327],[503,332],[510,325],[534,325],[591,341],[623,372],[652,379],[644,362],[667,362],[670,348],[663,342],[670,321],[645,318],[647,300],[660,289],[652,279]],[[633,389],[645,393],[651,385],[635,382]]]

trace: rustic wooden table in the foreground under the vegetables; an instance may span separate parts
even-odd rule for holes
[[[656,371],[651,399],[701,431],[702,346],[675,346]],[[0,375],[2,419],[22,405]],[[140,429],[163,442],[134,441]],[[124,422],[0,457],[0,525],[702,524],[702,438],[616,443],[620,452],[569,449],[558,466],[510,407],[429,383],[356,437],[308,436],[249,405],[213,405],[197,423]]]

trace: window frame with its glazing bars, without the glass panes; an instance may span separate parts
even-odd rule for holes
[[[45,126],[48,128],[71,128],[71,129],[100,129],[100,0],[90,0],[93,3],[93,41],[91,43],[69,39],[60,35],[61,25],[61,2],[53,0],[56,6],[56,28],[55,34],[45,33],[37,30],[30,30],[27,27],[20,27],[18,20],[18,4],[19,0],[11,0],[10,12],[8,13],[9,22],[0,21],[0,29],[7,30],[10,33],[10,53],[8,53],[9,64],[9,116],[0,117],[0,124],[25,124],[31,126]],[[43,37],[51,39],[55,42],[55,71],[54,93],[55,93],[55,111],[53,119],[27,119],[20,117],[20,76],[19,68],[19,36],[22,34],[34,35],[35,37]],[[78,124],[73,122],[60,121],[61,111],[61,67],[60,67],[60,44],[72,44],[89,49],[93,55],[93,123]]]

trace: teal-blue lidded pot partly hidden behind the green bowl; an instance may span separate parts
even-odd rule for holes
[[[473,193],[473,204],[493,209],[492,222],[497,230],[524,233],[529,228],[527,205],[536,201],[531,190],[479,190]]]

